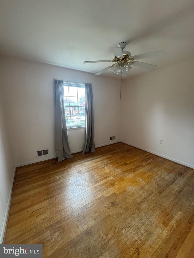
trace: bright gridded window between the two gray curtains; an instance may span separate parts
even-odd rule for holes
[[[64,82],[67,128],[85,126],[85,84]]]

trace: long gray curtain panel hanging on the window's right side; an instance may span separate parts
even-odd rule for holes
[[[95,152],[92,84],[85,83],[85,152]]]

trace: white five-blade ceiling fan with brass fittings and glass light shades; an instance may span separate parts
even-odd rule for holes
[[[115,56],[113,57],[113,60],[85,61],[85,62],[83,62],[83,64],[114,62],[115,64],[112,64],[112,65],[106,67],[105,69],[101,70],[100,72],[96,73],[95,75],[100,75],[101,73],[105,72],[106,70],[112,69],[112,71],[114,73],[119,74],[121,77],[125,77],[129,74],[129,71],[132,69],[133,65],[145,68],[150,71],[156,69],[156,67],[157,67],[157,65],[142,63],[142,62],[139,62],[136,60],[152,58],[152,57],[161,57],[161,56],[165,55],[164,51],[154,51],[154,52],[131,56],[131,53],[129,51],[123,51],[123,49],[126,47],[126,45],[127,45],[126,42],[121,42],[118,44],[118,47],[111,47],[111,48],[113,48],[113,50],[115,52]]]

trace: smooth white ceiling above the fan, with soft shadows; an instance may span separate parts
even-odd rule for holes
[[[121,41],[157,69],[194,58],[194,1],[0,0],[0,54],[96,73]],[[145,73],[133,67],[129,76]],[[111,70],[104,75],[118,77]]]

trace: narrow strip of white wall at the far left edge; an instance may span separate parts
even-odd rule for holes
[[[11,199],[15,162],[0,99],[0,244],[2,244]]]

